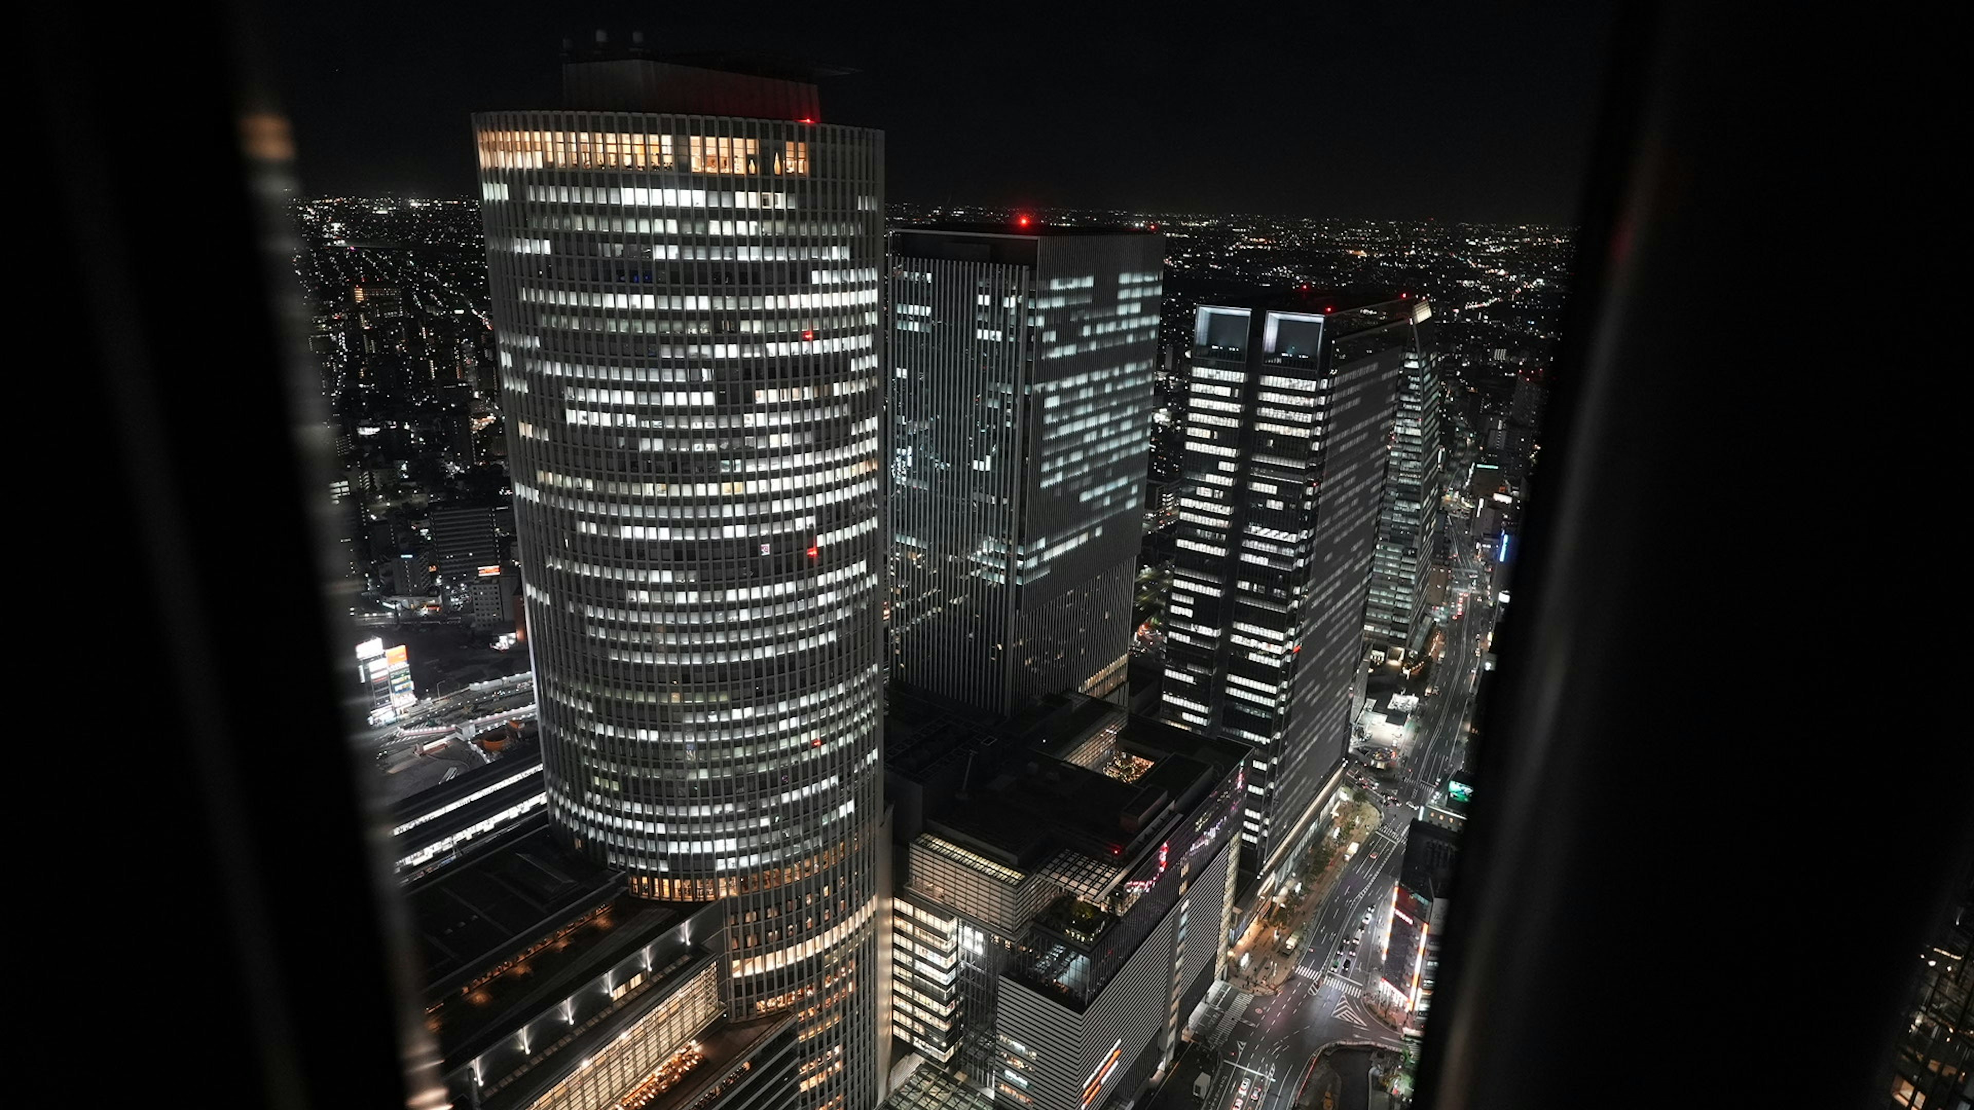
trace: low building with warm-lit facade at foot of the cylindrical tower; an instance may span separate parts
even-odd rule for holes
[[[736,1021],[722,903],[630,895],[537,814],[405,885],[428,1059],[466,1110],[788,1110],[796,1011]]]

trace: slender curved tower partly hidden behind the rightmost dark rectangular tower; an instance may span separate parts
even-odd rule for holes
[[[1439,543],[1445,460],[1439,446],[1439,356],[1431,350],[1427,328],[1431,324],[1419,326],[1421,350],[1405,354],[1384,472],[1384,508],[1378,512],[1378,547],[1372,551],[1370,598],[1364,604],[1366,638],[1407,656],[1425,648],[1429,628],[1425,579]]]

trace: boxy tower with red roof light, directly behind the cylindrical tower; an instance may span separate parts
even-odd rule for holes
[[[1123,687],[1165,237],[900,229],[892,677],[985,713]]]

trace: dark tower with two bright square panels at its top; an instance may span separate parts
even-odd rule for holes
[[[1252,745],[1246,869],[1273,875],[1350,739],[1411,296],[1198,308],[1165,711]]]

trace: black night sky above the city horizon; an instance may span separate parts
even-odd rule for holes
[[[821,83],[823,119],[886,132],[894,201],[1567,223],[1611,10],[351,0],[268,20],[312,196],[476,194],[468,115],[563,107],[563,38],[606,28],[859,69]]]

